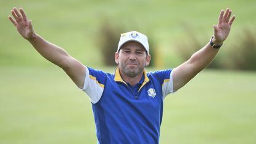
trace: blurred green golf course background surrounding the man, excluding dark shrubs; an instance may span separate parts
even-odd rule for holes
[[[0,143],[96,143],[91,103],[59,67],[20,37],[7,16],[23,7],[36,33],[85,65],[112,73],[98,48],[101,27],[138,30],[154,40],[159,65],[183,62],[175,46],[188,25],[202,43],[221,9],[236,20],[220,54],[256,24],[255,1],[4,1],[0,0]],[[150,38],[149,38],[150,39]],[[189,47],[188,47],[189,49]],[[198,48],[200,49],[200,47]],[[222,52],[222,53],[221,53]],[[109,56],[112,57],[111,55]],[[217,57],[218,58],[218,57]],[[113,54],[114,60],[114,54]],[[204,70],[164,100],[160,143],[256,143],[256,73]]]

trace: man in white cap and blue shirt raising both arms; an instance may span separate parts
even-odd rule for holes
[[[149,45],[137,31],[121,34],[114,74],[84,66],[64,49],[36,34],[23,9],[12,9],[10,21],[44,58],[60,66],[88,94],[98,143],[159,143],[163,98],[183,87],[203,70],[228,37],[234,16],[221,10],[210,42],[173,70],[147,73]],[[231,17],[231,18],[230,18]]]

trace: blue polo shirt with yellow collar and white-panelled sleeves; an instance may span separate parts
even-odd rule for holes
[[[144,70],[131,87],[118,68],[110,74],[86,67],[82,90],[92,103],[97,143],[159,143],[163,98],[173,92],[171,70]]]

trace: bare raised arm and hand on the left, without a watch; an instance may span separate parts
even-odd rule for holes
[[[28,20],[22,8],[18,10],[14,7],[11,13],[14,18],[9,15],[10,22],[14,24],[20,35],[27,39],[40,55],[55,65],[60,66],[72,81],[75,82],[76,86],[83,88],[86,73],[85,66],[68,55],[61,47],[44,40],[36,34],[31,25],[31,20]]]

